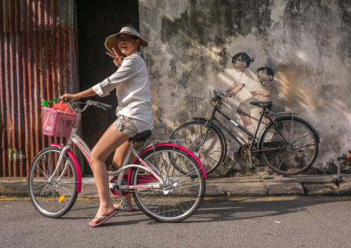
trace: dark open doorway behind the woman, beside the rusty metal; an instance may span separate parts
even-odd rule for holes
[[[117,68],[113,59],[106,55],[104,44],[106,37],[120,32],[125,24],[139,28],[137,0],[77,0],[79,91],[91,88],[115,73]],[[116,120],[115,109],[118,104],[115,90],[106,97],[95,95],[82,99],[82,102],[88,99],[113,106],[108,111],[91,107],[82,115],[82,137],[93,149],[99,137]],[[113,154],[106,160],[107,165],[112,158]],[[84,173],[92,173],[85,159]]]

